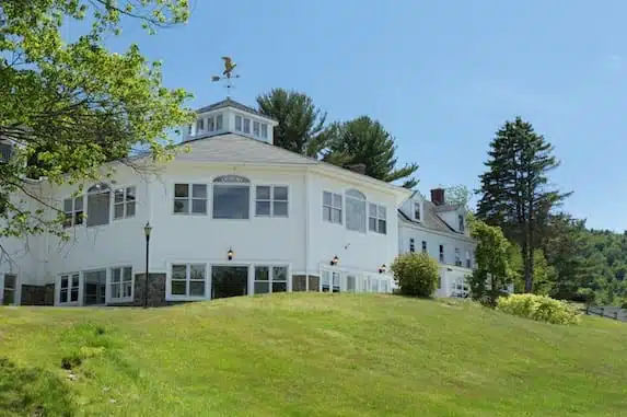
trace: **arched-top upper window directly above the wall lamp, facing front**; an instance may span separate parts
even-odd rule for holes
[[[251,185],[239,175],[213,179],[213,219],[249,219]]]

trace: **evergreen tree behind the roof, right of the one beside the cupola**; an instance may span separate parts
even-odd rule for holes
[[[383,126],[368,116],[335,123],[325,132],[328,148],[323,160],[339,166],[363,164],[365,175],[387,183],[404,179],[405,188],[414,188],[418,181],[411,175],[418,165],[396,167],[394,138]]]

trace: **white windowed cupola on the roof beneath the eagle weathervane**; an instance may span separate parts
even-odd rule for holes
[[[232,99],[199,108],[196,113],[196,121],[185,129],[183,141],[235,134],[274,143],[274,128],[278,123]]]

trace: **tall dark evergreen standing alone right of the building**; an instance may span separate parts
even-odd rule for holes
[[[520,117],[508,120],[490,142],[487,171],[477,192],[477,217],[501,227],[521,247],[525,292],[533,291],[534,252],[548,213],[569,195],[548,185],[548,173],[559,166],[553,151],[530,123]]]

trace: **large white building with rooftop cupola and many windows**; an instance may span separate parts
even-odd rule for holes
[[[279,291],[391,292],[388,266],[409,251],[440,262],[439,296],[463,294],[474,251],[463,208],[445,205],[441,189],[429,201],[275,147],[276,125],[228,99],[198,111],[183,138],[189,151],[171,162],[114,162],[111,178],[84,184],[76,197],[76,186],[30,182],[31,193],[65,212],[70,240],[3,239],[1,303],[165,305]],[[9,158],[7,143],[1,150]]]

